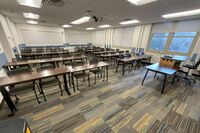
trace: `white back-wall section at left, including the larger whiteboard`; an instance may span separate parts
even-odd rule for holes
[[[30,24],[16,24],[19,44],[31,45],[61,45],[65,43],[64,29]]]

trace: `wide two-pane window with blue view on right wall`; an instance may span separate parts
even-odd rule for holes
[[[197,32],[153,33],[148,50],[188,54],[196,37]]]

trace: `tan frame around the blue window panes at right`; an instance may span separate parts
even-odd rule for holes
[[[189,31],[188,31],[189,32]],[[166,33],[166,32],[164,32]],[[169,32],[168,32],[169,33]],[[174,36],[176,32],[170,32],[169,33],[169,36],[167,36],[167,41],[166,41],[166,44],[165,44],[165,47],[162,51],[159,51],[159,50],[154,50],[154,49],[151,49],[151,40],[154,36],[154,34],[156,33],[151,33],[150,35],[150,38],[149,38],[149,41],[148,41],[148,45],[147,45],[147,52],[150,52],[150,53],[157,53],[159,54],[160,52],[162,52],[163,54],[175,54],[175,55],[191,55],[192,54],[192,51],[194,50],[194,47],[199,39],[199,36],[200,36],[200,32],[196,32],[196,36]],[[162,36],[161,36],[162,37]],[[163,36],[165,37],[165,36]],[[187,38],[187,37],[194,37],[193,41],[192,41],[192,45],[188,51],[188,53],[183,53],[183,52],[175,52],[175,51],[170,51],[169,48],[170,48],[170,45],[171,45],[171,42],[172,42],[172,39],[173,38]]]

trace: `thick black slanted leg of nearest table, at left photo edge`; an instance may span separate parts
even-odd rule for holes
[[[10,98],[9,93],[6,91],[6,89],[4,87],[0,88],[1,90],[1,94],[3,95],[4,100],[6,101],[10,111],[11,111],[11,115],[15,114],[15,111],[17,111],[12,99]]]

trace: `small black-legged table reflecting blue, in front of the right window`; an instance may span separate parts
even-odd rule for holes
[[[154,78],[156,77],[157,73],[164,75],[164,81],[163,81],[161,94],[163,94],[163,92],[164,92],[167,75],[174,75],[173,80],[172,80],[172,84],[174,83],[174,79],[176,77],[177,69],[161,66],[159,63],[149,65],[149,66],[146,67],[146,69],[147,69],[147,71],[146,71],[145,76],[142,80],[142,85],[144,84],[144,80],[146,79],[146,76],[147,76],[149,71],[155,72]]]

